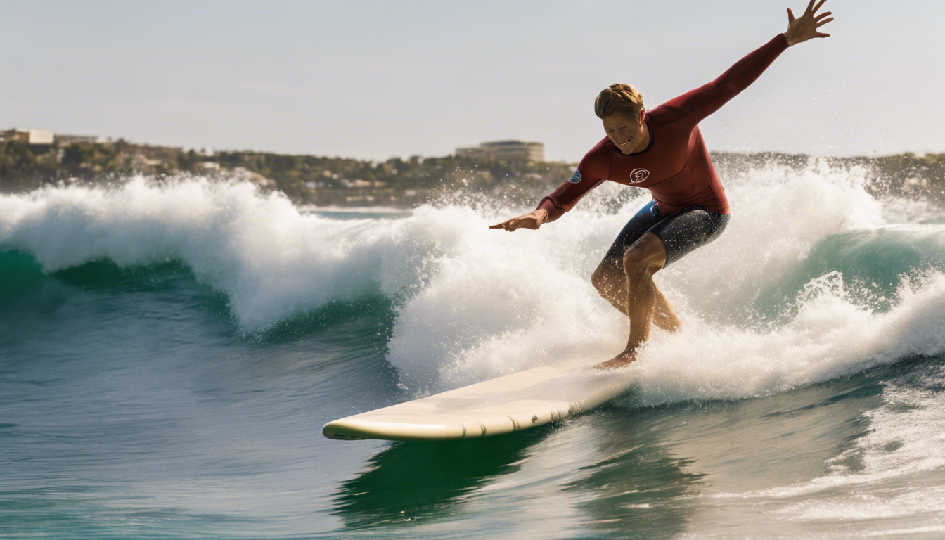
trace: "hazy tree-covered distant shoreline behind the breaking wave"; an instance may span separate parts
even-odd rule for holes
[[[868,190],[945,207],[945,153],[813,157],[781,152],[712,152],[727,174],[775,164],[803,170],[812,163],[862,167]],[[0,142],[0,193],[25,193],[75,181],[120,182],[132,175],[157,179],[193,175],[236,179],[280,191],[301,211],[395,214],[437,200],[476,198],[533,204],[567,181],[576,164],[489,156],[411,156],[385,162],[257,151],[197,152],[124,140],[65,146]],[[724,180],[724,179],[723,179]]]

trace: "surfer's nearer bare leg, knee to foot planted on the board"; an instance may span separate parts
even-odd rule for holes
[[[599,368],[627,365],[636,359],[636,351],[649,339],[650,322],[662,296],[653,283],[653,274],[666,264],[666,250],[662,240],[652,233],[627,248],[624,253],[624,272],[627,275],[627,316],[630,319],[630,337],[627,348],[616,357],[597,364]],[[665,301],[665,298],[663,298]],[[666,304],[668,306],[668,303]]]

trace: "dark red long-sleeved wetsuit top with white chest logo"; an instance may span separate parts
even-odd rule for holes
[[[577,165],[571,180],[541,200],[538,207],[548,212],[547,221],[560,218],[607,180],[650,190],[663,216],[696,205],[730,214],[699,121],[745,90],[786,48],[784,36],[778,34],[721,77],[647,111],[650,141],[643,151],[625,154],[604,137]]]

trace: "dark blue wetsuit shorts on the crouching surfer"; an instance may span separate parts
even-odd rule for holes
[[[617,235],[610,250],[604,255],[601,265],[616,265],[624,269],[624,253],[633,242],[646,233],[653,233],[662,240],[666,249],[666,268],[683,255],[704,246],[722,234],[729,224],[730,214],[716,214],[702,206],[690,206],[663,216],[656,201],[651,200],[627,221],[624,230]]]

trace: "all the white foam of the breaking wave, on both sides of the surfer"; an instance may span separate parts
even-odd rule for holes
[[[602,186],[558,222],[508,234],[488,225],[526,208],[443,204],[399,219],[338,220],[301,214],[250,183],[135,178],[0,197],[0,247],[32,253],[48,271],[101,258],[180,260],[228,295],[248,331],[382,292],[399,299],[388,360],[407,388],[432,392],[623,349],[626,318],[589,276],[647,199],[605,211],[625,189]],[[728,193],[725,234],[657,275],[684,325],[675,335],[655,330],[631,368],[640,404],[782,392],[945,351],[945,278],[935,269],[904,278],[884,312],[854,301],[856,286],[826,272],[807,284],[789,321],[759,329],[751,319],[759,291],[830,235],[900,224],[899,241],[940,243],[940,225],[916,224],[933,213],[927,205],[877,200],[862,171],[819,163],[755,169],[730,178]]]

